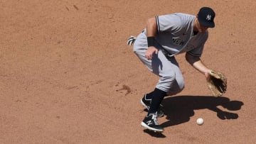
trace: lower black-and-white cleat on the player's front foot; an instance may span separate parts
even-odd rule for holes
[[[164,131],[164,128],[161,128],[161,126],[159,126],[159,123],[157,121],[157,111],[156,113],[149,113],[149,116],[146,116],[144,118],[141,125],[144,128],[149,129],[150,131],[159,132],[159,133]]]

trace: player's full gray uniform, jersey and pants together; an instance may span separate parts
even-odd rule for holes
[[[154,46],[159,49],[159,52],[151,60],[145,57],[148,49],[146,29],[137,35],[134,42],[136,55],[151,72],[159,76],[156,88],[167,92],[167,94],[181,92],[184,87],[183,76],[174,55],[182,52],[188,52],[190,55],[198,57],[202,55],[208,31],[194,35],[193,22],[195,18],[196,16],[185,13],[156,16],[157,33]]]

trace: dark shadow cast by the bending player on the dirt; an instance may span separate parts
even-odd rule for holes
[[[194,110],[197,109],[213,111],[222,120],[237,119],[237,113],[228,111],[238,111],[243,105],[242,101],[230,101],[230,99],[223,96],[171,96],[166,97],[161,104],[168,120],[161,124],[163,127],[189,121],[190,117],[194,115]],[[225,109],[225,111],[222,109]]]

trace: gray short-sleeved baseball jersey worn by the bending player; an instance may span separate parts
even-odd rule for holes
[[[206,33],[193,35],[193,20],[196,16],[185,13],[174,13],[163,16],[156,16],[156,43],[166,50],[169,56],[189,52],[194,56],[201,56],[203,45],[208,38]],[[144,31],[146,34],[146,29]],[[156,45],[156,47],[158,47]]]

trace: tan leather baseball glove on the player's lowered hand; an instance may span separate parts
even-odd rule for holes
[[[206,81],[213,96],[222,96],[227,91],[227,78],[221,72],[211,70]]]

